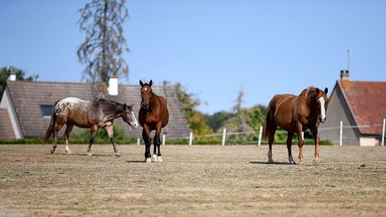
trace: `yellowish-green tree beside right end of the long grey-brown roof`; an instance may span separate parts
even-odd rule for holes
[[[194,95],[187,93],[180,83],[177,83],[175,87],[177,88],[178,98],[183,105],[189,128],[193,133],[197,136],[213,133],[213,129],[206,122],[206,116],[197,110],[197,106],[201,102]]]

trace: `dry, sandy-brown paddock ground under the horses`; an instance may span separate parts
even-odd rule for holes
[[[163,163],[142,163],[144,146],[0,146],[0,215],[386,215],[386,148],[162,146]],[[293,148],[294,155],[298,147]]]

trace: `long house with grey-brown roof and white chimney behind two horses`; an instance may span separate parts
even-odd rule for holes
[[[163,129],[166,138],[189,136],[189,125],[185,112],[174,86],[153,86],[155,94],[164,96],[168,101],[169,124]],[[107,88],[105,84],[42,82],[8,80],[0,102],[0,139],[1,138],[43,138],[51,119],[53,104],[69,96],[92,100],[95,93],[119,103],[134,104],[133,112],[138,119],[141,101],[140,87],[119,85],[118,78],[112,78]],[[114,123],[120,125],[132,138],[142,138],[142,128],[131,129],[121,118]],[[64,129],[59,136],[63,137]],[[79,131],[74,127],[73,133]]]

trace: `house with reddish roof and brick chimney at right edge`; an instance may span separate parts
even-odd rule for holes
[[[379,146],[382,122],[386,118],[386,82],[353,81],[340,71],[329,99],[327,121],[319,129],[322,139],[343,146]]]

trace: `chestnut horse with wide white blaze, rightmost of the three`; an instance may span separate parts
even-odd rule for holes
[[[268,137],[269,151],[268,163],[273,163],[272,145],[277,127],[288,131],[287,148],[290,163],[295,163],[292,157],[292,138],[298,134],[299,163],[303,163],[303,138],[302,131],[310,129],[315,140],[315,159],[319,158],[318,126],[326,120],[328,88],[322,91],[319,88],[309,87],[304,89],[299,96],[290,94],[275,95],[268,105],[264,121],[264,139]]]

